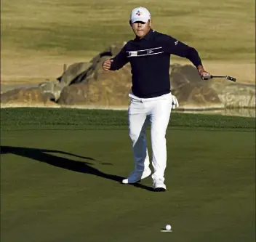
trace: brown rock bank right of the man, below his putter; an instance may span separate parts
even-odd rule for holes
[[[201,80],[192,65],[172,65],[172,94],[180,108],[254,108],[255,86],[228,80]]]

